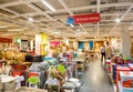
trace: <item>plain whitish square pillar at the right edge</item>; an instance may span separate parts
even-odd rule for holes
[[[121,39],[122,39],[122,55],[123,55],[123,58],[131,57],[131,35],[130,35],[130,31],[122,30],[121,31]]]

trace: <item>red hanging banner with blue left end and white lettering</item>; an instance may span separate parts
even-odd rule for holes
[[[79,14],[68,17],[68,24],[100,22],[100,13]]]

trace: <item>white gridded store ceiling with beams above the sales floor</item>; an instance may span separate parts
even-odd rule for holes
[[[99,23],[66,24],[69,16],[96,12],[101,17]],[[115,22],[117,18],[120,23]],[[133,35],[133,0],[0,0],[0,35],[3,37],[29,39],[45,32],[54,38],[81,39],[120,35],[121,30]]]

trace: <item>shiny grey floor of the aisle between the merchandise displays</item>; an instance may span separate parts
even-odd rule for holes
[[[80,92],[114,92],[108,72],[101,64],[100,59],[89,64],[81,79],[84,83]]]

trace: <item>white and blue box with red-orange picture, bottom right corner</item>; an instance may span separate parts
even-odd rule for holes
[[[117,82],[119,92],[133,92],[133,72],[120,72],[121,80]]]

